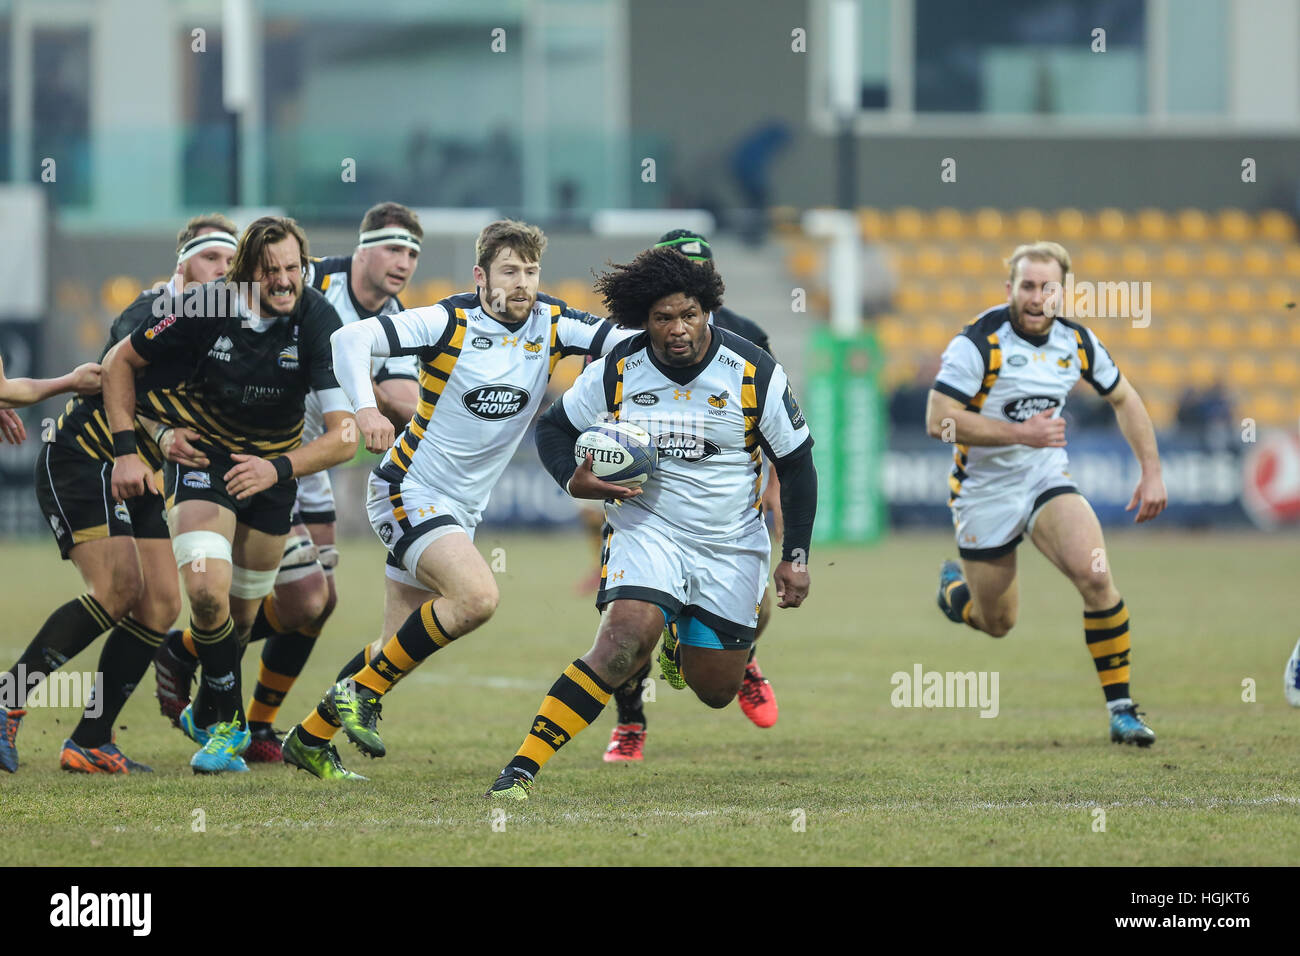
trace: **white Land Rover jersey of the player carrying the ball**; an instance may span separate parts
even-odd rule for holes
[[[619,531],[653,515],[679,532],[738,542],[763,529],[759,449],[780,459],[812,444],[785,369],[718,326],[701,363],[685,372],[660,363],[641,333],[588,365],[562,401],[578,431],[615,419],[654,436],[654,477],[604,510]]]

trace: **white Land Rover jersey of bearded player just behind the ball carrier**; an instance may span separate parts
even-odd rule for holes
[[[477,293],[368,321],[381,329],[372,354],[413,355],[420,363],[415,416],[374,473],[437,489],[476,519],[528,431],[555,363],[566,355],[603,355],[637,334],[543,294],[519,325],[488,315]],[[341,375],[356,407],[364,392],[352,373]]]

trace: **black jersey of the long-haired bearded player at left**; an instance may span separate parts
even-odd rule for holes
[[[211,300],[225,304],[220,294]],[[307,393],[338,388],[329,343],[341,328],[334,307],[304,286],[283,317],[211,311],[218,315],[151,316],[131,333],[144,360],[187,371],[183,388],[152,397],[144,412],[195,429],[205,449],[268,457],[298,447]]]

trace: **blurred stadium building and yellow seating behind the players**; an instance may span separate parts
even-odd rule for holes
[[[1084,321],[1161,429],[1161,523],[1295,529],[1297,51],[1300,0],[0,0],[0,354],[95,358],[211,209],[281,209],[325,255],[374,202],[416,207],[408,306],[528,219],[543,287],[593,311],[593,268],[686,222],[800,386],[819,533],[871,540],[949,523],[939,354],[1053,238],[1079,281],[1149,284],[1148,324]],[[1126,520],[1113,415],[1076,392],[1067,418]],[[40,533],[38,447],[0,449],[0,535]],[[575,520],[530,444],[493,518]]]

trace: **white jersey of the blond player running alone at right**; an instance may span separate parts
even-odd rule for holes
[[[1060,418],[1079,378],[1106,395],[1119,368],[1091,329],[1057,319],[1041,336],[1017,332],[1008,306],[985,310],[944,350],[935,390],[1002,421],[1026,421],[1046,408]],[[1069,459],[1065,449],[958,445],[948,484],[953,498],[972,485],[1005,484],[1030,468]],[[952,502],[949,502],[952,503]]]

